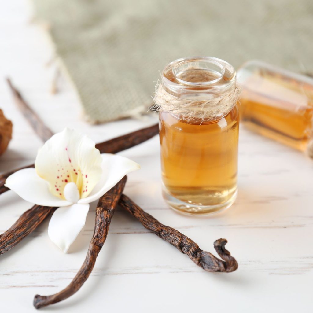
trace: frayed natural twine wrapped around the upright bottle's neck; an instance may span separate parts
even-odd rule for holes
[[[190,100],[178,98],[169,94],[162,86],[156,85],[156,93],[153,98],[156,111],[171,112],[181,119],[191,121],[203,121],[205,119],[217,119],[227,115],[236,104],[240,87],[234,87],[230,92],[218,98],[207,100]]]

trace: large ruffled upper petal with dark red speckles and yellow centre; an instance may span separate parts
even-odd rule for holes
[[[101,162],[100,151],[90,138],[65,128],[39,149],[35,169],[55,196],[64,199],[65,185],[74,182],[80,198],[85,198],[101,177]]]

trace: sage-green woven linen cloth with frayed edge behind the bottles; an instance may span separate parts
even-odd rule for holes
[[[160,71],[188,56],[313,72],[312,0],[34,0],[91,122],[145,113]]]

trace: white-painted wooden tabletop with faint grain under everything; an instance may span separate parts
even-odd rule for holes
[[[33,162],[42,142],[15,108],[4,82],[14,84],[54,131],[80,129],[96,142],[156,121],[125,120],[91,126],[82,121],[73,88],[62,82],[49,93],[52,52],[44,32],[29,23],[28,2],[11,0],[0,11],[0,107],[13,121],[13,140],[0,171]],[[313,310],[313,162],[300,152],[240,131],[239,196],[226,212],[208,218],[178,215],[161,196],[159,143],[155,137],[121,153],[141,164],[125,193],[162,223],[177,228],[202,249],[227,238],[237,271],[212,274],[149,233],[121,209],[94,270],[71,298],[43,311],[59,312],[311,312]],[[0,196],[0,233],[31,204],[9,191]],[[47,236],[47,221],[0,256],[1,312],[34,312],[35,294],[69,284],[80,268],[93,233],[95,203],[76,242],[63,254]]]

